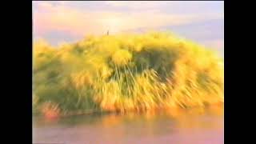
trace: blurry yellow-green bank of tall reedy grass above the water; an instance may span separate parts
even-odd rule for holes
[[[174,34],[90,36],[58,47],[36,42],[33,58],[39,114],[204,107],[224,99],[222,59]]]

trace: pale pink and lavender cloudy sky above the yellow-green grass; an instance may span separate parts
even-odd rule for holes
[[[170,31],[224,57],[223,1],[33,1],[33,39],[54,46],[86,35]]]

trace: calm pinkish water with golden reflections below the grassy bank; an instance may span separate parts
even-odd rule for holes
[[[126,115],[94,114],[59,118],[54,121],[34,118],[33,121],[34,143],[224,143],[221,110],[171,110]]]

